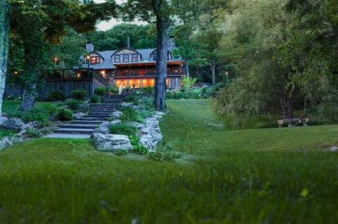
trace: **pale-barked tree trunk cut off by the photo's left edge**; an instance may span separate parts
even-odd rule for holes
[[[0,115],[6,85],[6,73],[9,48],[9,4],[0,0]]]

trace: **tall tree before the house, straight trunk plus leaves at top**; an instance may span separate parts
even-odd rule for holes
[[[169,0],[128,0],[121,9],[125,20],[140,19],[149,23],[156,22],[158,57],[154,104],[157,111],[165,111],[165,80],[167,77],[170,15],[173,14],[172,2]]]

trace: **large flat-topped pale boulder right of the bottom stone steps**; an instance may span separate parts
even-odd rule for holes
[[[98,151],[115,151],[118,149],[132,149],[127,135],[94,134],[94,145]]]

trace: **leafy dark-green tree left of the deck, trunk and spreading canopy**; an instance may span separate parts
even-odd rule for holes
[[[24,46],[24,92],[21,108],[34,106],[37,68],[46,58],[49,43],[60,43],[68,27],[77,32],[95,29],[96,20],[107,20],[115,13],[115,1],[95,4],[94,1],[11,1],[11,32]]]

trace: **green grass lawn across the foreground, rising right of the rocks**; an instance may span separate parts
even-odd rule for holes
[[[227,130],[207,100],[168,101],[165,144],[196,163],[35,139],[0,151],[0,223],[336,223],[338,125]]]

